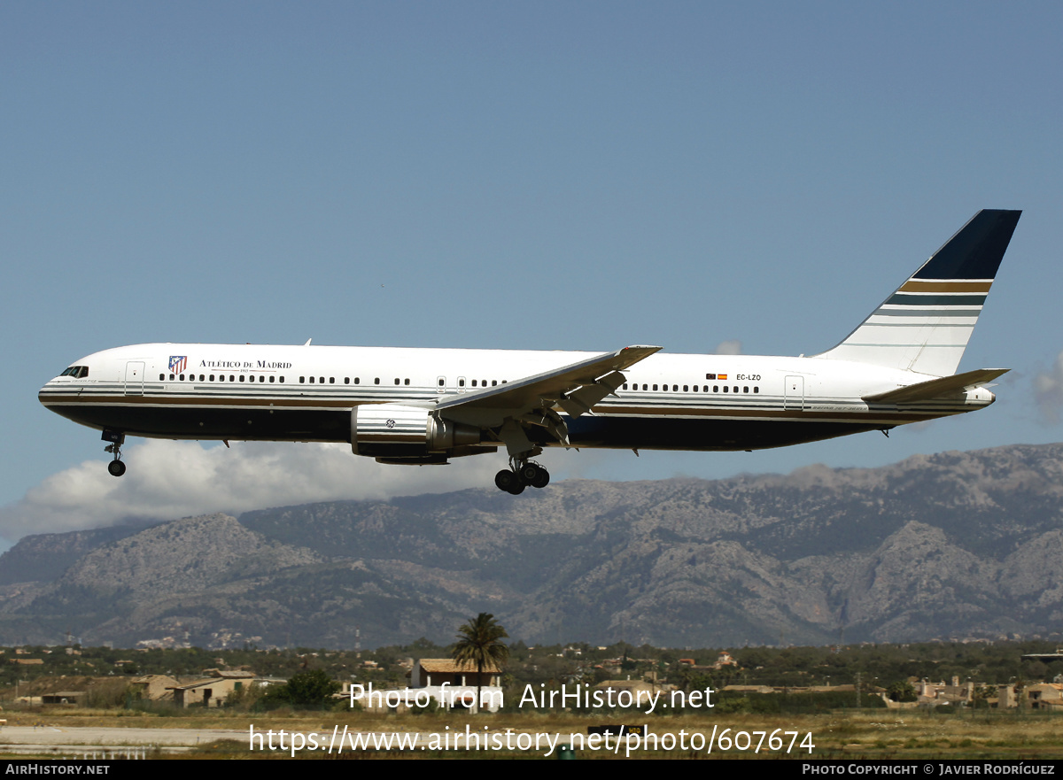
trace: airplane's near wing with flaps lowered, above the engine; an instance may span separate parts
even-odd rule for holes
[[[618,352],[580,360],[535,376],[507,381],[497,387],[449,395],[436,405],[436,413],[448,420],[482,428],[503,425],[507,418],[521,424],[545,425],[525,416],[553,412],[560,406],[569,416],[579,417],[624,384],[624,369],[643,360],[659,346],[625,346]],[[557,418],[556,423],[560,422]]]

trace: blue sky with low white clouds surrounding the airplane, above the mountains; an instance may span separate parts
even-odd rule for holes
[[[549,465],[722,477],[1056,441],[1061,39],[1049,2],[4,3],[0,536],[486,485],[501,464],[131,441],[114,480],[99,435],[36,401],[90,352],[811,354],[983,207],[1024,209],[961,364],[1013,369],[992,408]]]

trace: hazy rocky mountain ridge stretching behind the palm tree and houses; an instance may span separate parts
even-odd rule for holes
[[[0,556],[0,643],[446,642],[482,611],[532,642],[1047,632],[1061,507],[1063,444],[1045,444],[40,535]]]

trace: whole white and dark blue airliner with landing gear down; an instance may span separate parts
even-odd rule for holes
[[[983,209],[817,355],[137,344],[84,357],[39,401],[126,436],[347,442],[381,463],[505,447],[499,489],[543,488],[544,447],[753,451],[981,409],[1008,369],[956,374],[1022,211]]]

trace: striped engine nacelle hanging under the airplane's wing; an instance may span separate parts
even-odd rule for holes
[[[420,458],[479,442],[479,428],[439,420],[418,406],[367,404],[351,409],[351,450],[355,455]]]

